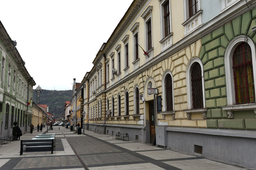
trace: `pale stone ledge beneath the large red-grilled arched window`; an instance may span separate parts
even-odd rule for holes
[[[256,103],[237,104],[237,105],[232,105],[232,106],[222,106],[222,110],[226,110],[228,118],[233,119],[234,118],[233,111],[254,110],[254,112],[256,114]]]

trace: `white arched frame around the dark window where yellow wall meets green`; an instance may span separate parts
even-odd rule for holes
[[[189,63],[188,63],[188,67],[187,67],[187,71],[186,71],[186,78],[187,78],[187,99],[188,99],[188,110],[192,109],[192,87],[191,87],[191,66],[193,63],[199,63],[201,66],[201,71],[202,71],[202,91],[203,91],[203,108],[206,108],[206,102],[205,102],[205,89],[204,89],[204,69],[203,69],[203,63],[202,61],[195,57],[192,58]]]

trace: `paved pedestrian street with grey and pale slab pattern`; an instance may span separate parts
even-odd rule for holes
[[[46,128],[44,128],[46,130]],[[44,132],[44,134],[46,131]],[[42,134],[35,130],[20,139]],[[23,152],[20,141],[0,147],[0,170],[240,170],[243,168],[195,157],[151,145],[113,139],[112,136],[85,131],[78,135],[64,127],[53,127],[56,147],[50,151]]]

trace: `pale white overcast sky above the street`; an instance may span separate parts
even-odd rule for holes
[[[0,20],[46,90],[71,90],[93,67],[133,0],[4,0]]]

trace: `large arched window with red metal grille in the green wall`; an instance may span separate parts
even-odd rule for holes
[[[247,43],[239,44],[233,53],[236,104],[255,102],[252,51]]]

